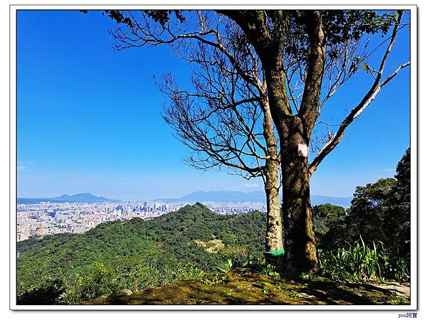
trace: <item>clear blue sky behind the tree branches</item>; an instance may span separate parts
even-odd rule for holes
[[[99,13],[19,11],[18,196],[90,192],[142,200],[261,189],[261,181],[201,174],[182,163],[189,150],[160,116],[164,99],[152,76],[171,72],[186,82],[186,63],[165,46],[115,51],[111,26]],[[405,28],[386,73],[407,60]],[[356,186],[394,175],[409,146],[409,71],[386,85],[320,164],[312,194],[352,196]],[[349,82],[325,106],[328,119],[341,119],[370,83],[362,73]]]

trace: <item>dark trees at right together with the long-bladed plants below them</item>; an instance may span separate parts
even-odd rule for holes
[[[352,206],[346,212],[343,208],[331,212],[332,207],[325,205],[313,208],[317,243],[330,251],[322,258],[322,268],[327,274],[353,280],[408,277],[410,167],[410,149],[407,149],[397,165],[396,176],[358,186]]]

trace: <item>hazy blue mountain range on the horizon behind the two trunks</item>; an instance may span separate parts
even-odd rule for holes
[[[156,199],[164,202],[265,202],[264,191],[196,191],[181,198]],[[337,206],[349,207],[352,197],[311,196],[312,206],[331,203]]]

